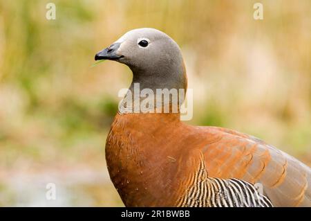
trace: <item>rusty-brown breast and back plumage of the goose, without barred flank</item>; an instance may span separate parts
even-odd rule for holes
[[[177,206],[201,160],[209,177],[262,183],[274,206],[311,206],[310,168],[263,141],[178,114],[115,116],[106,161],[126,206]]]

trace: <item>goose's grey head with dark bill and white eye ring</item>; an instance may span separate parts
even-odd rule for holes
[[[132,85],[140,83],[141,89],[187,89],[185,65],[178,44],[154,28],[130,30],[97,53],[95,60],[126,64],[133,72]]]

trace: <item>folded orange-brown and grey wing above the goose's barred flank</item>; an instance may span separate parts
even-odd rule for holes
[[[247,134],[209,127],[222,139],[203,152],[209,177],[261,183],[274,206],[311,206],[311,169],[294,157]]]

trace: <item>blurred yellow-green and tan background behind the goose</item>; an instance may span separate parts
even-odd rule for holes
[[[133,28],[182,48],[190,124],[252,134],[311,166],[311,1],[0,0],[0,206],[123,206],[104,145],[131,72],[94,55]],[[55,183],[57,200],[46,200]]]

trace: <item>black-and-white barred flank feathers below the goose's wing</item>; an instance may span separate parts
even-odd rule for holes
[[[180,197],[178,206],[206,207],[272,207],[270,200],[255,186],[241,179],[207,177],[202,160],[198,173],[190,177],[191,186]]]

